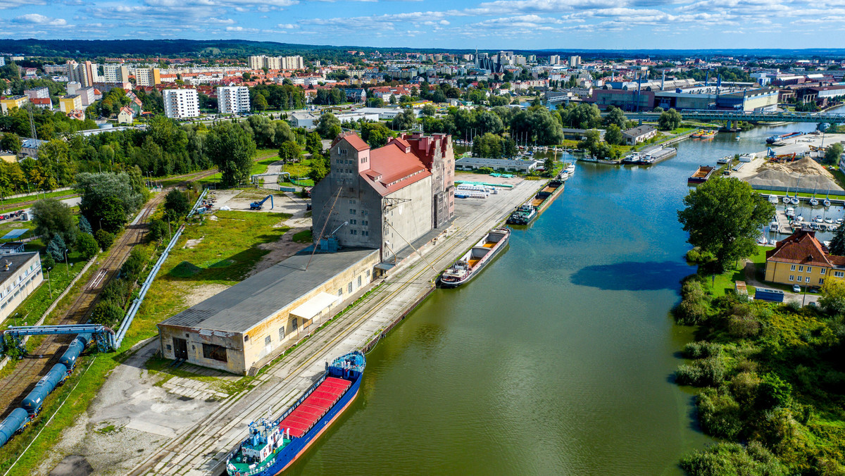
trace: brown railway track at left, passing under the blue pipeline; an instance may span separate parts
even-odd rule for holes
[[[117,243],[112,245],[112,251],[106,255],[106,259],[102,261],[99,270],[85,283],[82,292],[74,299],[74,302],[57,324],[83,324],[88,320],[103,287],[106,287],[106,284],[117,275],[117,271],[120,270],[132,248],[144,239],[150,214],[164,200],[164,195],[156,194],[152,200],[144,205],[134,224],[128,225]],[[57,265],[63,264],[58,263]],[[46,375],[46,372],[57,364],[58,358],[62,355],[63,347],[66,347],[73,337],[45,336],[38,347],[31,350],[25,358],[19,361],[10,375],[0,380],[0,408],[3,409],[0,419],[5,418],[14,408],[19,407],[20,402],[35,387],[38,379]]]

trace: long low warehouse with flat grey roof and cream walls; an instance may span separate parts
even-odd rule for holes
[[[162,321],[161,355],[247,375],[343,309],[378,262],[377,249],[295,254]]]

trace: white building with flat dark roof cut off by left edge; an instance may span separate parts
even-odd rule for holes
[[[0,256],[0,322],[24,302],[44,282],[38,253],[13,253]]]

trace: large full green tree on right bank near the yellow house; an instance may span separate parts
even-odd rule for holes
[[[678,221],[690,244],[716,257],[717,271],[754,254],[760,228],[775,214],[774,205],[735,178],[711,178],[691,190],[684,205]]]

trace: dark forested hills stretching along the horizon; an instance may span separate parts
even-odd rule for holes
[[[335,55],[346,51],[381,52],[474,52],[468,49],[444,48],[374,48],[356,46],[304,45],[297,43],[279,43],[275,41],[249,40],[0,40],[0,52],[21,53],[47,57],[112,57],[130,55],[136,57],[244,57],[254,54],[302,54],[316,57],[334,52]],[[488,49],[485,51],[498,51]],[[586,57],[845,57],[845,48],[810,48],[810,49],[696,49],[696,50],[584,50],[584,49],[510,49],[521,54],[539,54],[542,56],[559,54],[570,56],[580,54]]]

